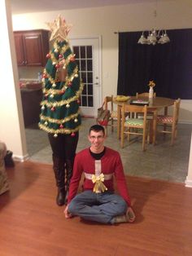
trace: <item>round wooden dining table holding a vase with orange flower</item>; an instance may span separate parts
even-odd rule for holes
[[[165,98],[165,97],[154,97],[149,99],[149,97],[143,97],[143,96],[130,96],[128,100],[126,101],[118,101],[116,98],[114,99],[114,104],[117,104],[117,138],[120,139],[120,120],[121,120],[121,108],[123,104],[132,104],[133,101],[139,100],[139,102],[142,104],[142,102],[147,103],[147,108],[151,109],[154,108],[157,111],[164,108],[164,115],[168,114],[168,107],[172,106],[175,102],[175,99]]]

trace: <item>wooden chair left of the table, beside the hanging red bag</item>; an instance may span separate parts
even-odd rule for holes
[[[108,109],[110,111],[110,118],[107,126],[111,126],[111,132],[114,131],[114,127],[117,126],[117,111],[113,108],[113,95],[106,96],[104,99],[104,109]],[[105,132],[107,135],[107,126],[105,126]]]

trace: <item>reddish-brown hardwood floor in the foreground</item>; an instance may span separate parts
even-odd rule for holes
[[[192,189],[182,183],[128,176],[137,220],[110,226],[64,218],[52,166],[18,162],[7,174],[1,256],[192,255]]]

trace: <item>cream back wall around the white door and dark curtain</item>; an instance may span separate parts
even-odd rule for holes
[[[42,13],[13,15],[13,29],[48,29],[46,22],[61,14],[68,23],[73,24],[69,37],[102,36],[102,91],[105,95],[116,95],[118,72],[118,35],[115,31],[140,31],[156,29],[192,28],[192,2],[169,1],[156,4],[128,4],[114,7],[61,10]],[[32,77],[31,69],[21,69],[20,76]],[[37,68],[34,69],[37,78]],[[181,100],[180,121],[192,123],[192,100]]]

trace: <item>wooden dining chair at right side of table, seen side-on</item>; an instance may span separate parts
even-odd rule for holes
[[[173,112],[171,115],[158,115],[157,116],[157,132],[171,135],[171,146],[174,143],[174,139],[177,137],[177,124],[179,119],[181,99],[176,99],[173,106]],[[160,129],[159,129],[160,128]]]

